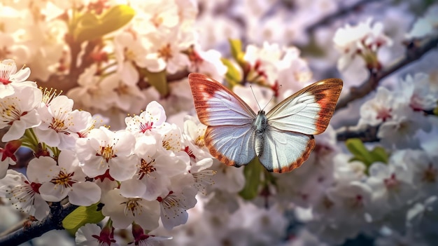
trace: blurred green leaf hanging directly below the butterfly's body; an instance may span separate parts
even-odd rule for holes
[[[263,172],[263,166],[260,160],[256,157],[245,166],[243,175],[245,175],[245,186],[239,192],[239,195],[245,200],[251,200],[255,198],[259,191],[261,184],[260,175]]]

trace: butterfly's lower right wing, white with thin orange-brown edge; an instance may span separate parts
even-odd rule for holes
[[[315,146],[312,135],[268,128],[262,139],[260,163],[270,172],[289,172],[298,168]]]

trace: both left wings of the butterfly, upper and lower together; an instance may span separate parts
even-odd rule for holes
[[[241,166],[255,157],[255,113],[239,96],[203,74],[189,74],[195,109],[208,125],[204,142],[212,156],[227,165]]]

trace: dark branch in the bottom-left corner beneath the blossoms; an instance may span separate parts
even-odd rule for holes
[[[23,226],[13,233],[0,237],[0,245],[20,245],[48,231],[63,230],[62,220],[77,207],[71,204],[52,203],[50,205],[50,214],[47,217],[41,221],[31,222],[30,226]]]

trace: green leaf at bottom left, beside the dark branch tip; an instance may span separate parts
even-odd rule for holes
[[[62,226],[69,231],[72,235],[78,231],[80,226],[87,223],[96,224],[104,219],[104,215],[101,210],[98,210],[99,203],[95,203],[88,207],[80,206],[73,210],[71,214],[67,215],[62,221]]]

